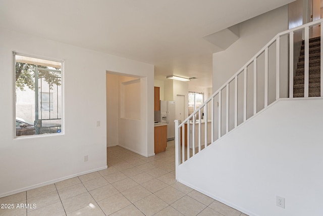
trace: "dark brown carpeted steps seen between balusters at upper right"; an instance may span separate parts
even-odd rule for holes
[[[304,40],[294,76],[294,98],[304,97]],[[320,97],[320,37],[309,39],[308,97]]]

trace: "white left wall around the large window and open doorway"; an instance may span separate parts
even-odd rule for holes
[[[153,152],[153,65],[6,29],[0,29],[0,38],[0,172],[6,174],[0,197],[106,167],[106,70],[145,77],[149,91],[142,93],[145,122],[140,126],[146,134],[138,136],[145,153]],[[63,134],[14,139],[13,51],[65,60]]]

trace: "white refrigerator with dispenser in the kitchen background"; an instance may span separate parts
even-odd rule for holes
[[[167,141],[175,138],[175,101],[160,101],[157,121],[167,123]]]

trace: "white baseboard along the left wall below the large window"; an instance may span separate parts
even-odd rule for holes
[[[100,168],[80,172],[78,174],[74,174],[74,175],[71,175],[71,176],[66,176],[66,177],[62,177],[62,178],[59,178],[59,179],[50,180],[48,182],[43,182],[43,183],[39,183],[39,184],[32,185],[32,186],[29,186],[29,187],[9,191],[9,192],[0,194],[0,198],[5,197],[5,196],[10,196],[10,195],[13,195],[13,194],[17,194],[17,193],[20,193],[20,192],[24,192],[24,191],[29,191],[29,190],[32,190],[32,189],[35,189],[35,188],[46,186],[46,185],[51,185],[51,184],[54,184],[54,183],[57,183],[57,182],[61,182],[61,181],[67,180],[67,179],[71,179],[71,178],[78,177],[78,176],[81,176],[81,175],[89,174],[90,172],[99,171],[99,170],[106,169],[106,168],[107,168],[107,166],[103,166],[103,167],[100,167]]]

